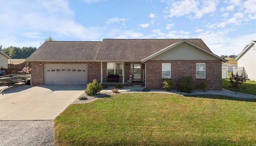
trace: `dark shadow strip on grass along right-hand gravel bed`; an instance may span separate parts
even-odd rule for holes
[[[185,97],[198,97],[204,99],[223,99],[223,100],[231,100],[231,101],[246,101],[246,102],[254,102],[256,103],[256,98],[254,99],[245,99],[245,98],[237,98],[237,97],[228,97],[223,95],[184,95]]]

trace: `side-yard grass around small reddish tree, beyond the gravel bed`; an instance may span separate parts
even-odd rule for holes
[[[228,77],[231,77],[231,73],[231,71],[228,72]],[[229,85],[229,79],[222,79],[222,88],[235,91],[233,88],[229,88]],[[256,81],[246,80],[246,82],[243,83],[242,86],[246,87],[246,89],[239,89],[238,92],[256,95]]]

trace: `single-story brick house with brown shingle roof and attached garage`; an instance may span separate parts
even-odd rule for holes
[[[32,66],[32,85],[86,85],[97,79],[119,83],[132,78],[149,89],[162,89],[165,79],[191,75],[210,90],[222,90],[222,63],[227,62],[202,39],[103,39],[103,41],[46,41],[26,61]],[[176,89],[176,86],[174,87]]]

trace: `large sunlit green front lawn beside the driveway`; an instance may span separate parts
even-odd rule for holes
[[[54,120],[57,146],[254,146],[256,99],[162,93],[72,104]]]

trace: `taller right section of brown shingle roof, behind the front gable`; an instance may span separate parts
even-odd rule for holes
[[[103,39],[97,61],[140,61],[184,39]],[[186,39],[212,52],[202,39]]]

